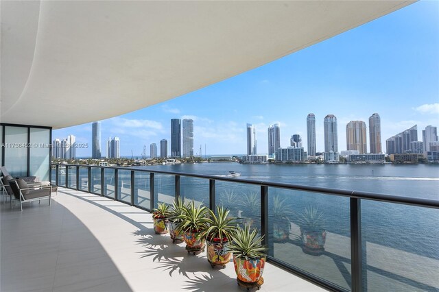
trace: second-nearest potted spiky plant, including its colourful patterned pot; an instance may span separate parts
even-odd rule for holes
[[[228,252],[228,245],[231,240],[233,230],[235,230],[235,218],[228,217],[229,210],[217,206],[216,214],[209,210],[209,228],[202,232],[202,237],[206,238],[207,260],[212,267],[230,262],[231,253]]]

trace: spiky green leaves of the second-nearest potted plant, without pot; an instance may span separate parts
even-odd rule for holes
[[[228,217],[229,212],[229,210],[222,206],[216,207],[216,214],[212,210],[209,210],[209,228],[204,230],[201,236],[211,240],[219,239],[221,243],[223,243],[224,239],[230,242],[237,222],[235,218]]]

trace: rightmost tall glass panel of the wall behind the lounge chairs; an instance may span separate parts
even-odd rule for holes
[[[40,182],[49,181],[50,130],[30,128],[29,173]]]

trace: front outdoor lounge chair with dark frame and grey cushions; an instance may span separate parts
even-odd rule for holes
[[[20,201],[20,209],[23,211],[23,203],[38,201],[42,199],[50,198],[52,186],[28,186],[25,180],[19,178],[18,180],[12,179],[9,181],[9,185],[12,188],[12,193],[14,193],[15,199]],[[12,209],[12,200],[11,200]]]

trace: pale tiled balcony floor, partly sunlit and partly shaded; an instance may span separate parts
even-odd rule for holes
[[[47,201],[1,204],[0,291],[245,291],[233,263],[212,269],[205,254],[154,234],[150,213],[60,188]],[[268,263],[260,291],[322,291]]]

